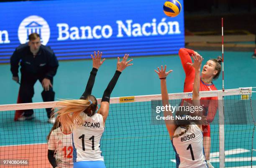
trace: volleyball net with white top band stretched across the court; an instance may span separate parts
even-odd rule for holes
[[[256,166],[252,92],[252,88],[200,92],[201,98],[218,98],[210,123],[210,162],[215,168]],[[172,93],[169,103],[179,106],[188,98],[192,93]],[[53,125],[48,123],[45,108],[56,103],[0,105],[0,167],[15,167],[14,162],[4,164],[6,160],[23,161],[17,167],[51,167],[46,136]],[[110,99],[100,143],[106,167],[176,167],[175,152],[164,121],[158,119],[157,106],[161,106],[161,95]],[[34,119],[13,120],[15,110],[26,109],[33,109]]]

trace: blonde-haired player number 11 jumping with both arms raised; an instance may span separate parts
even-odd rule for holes
[[[110,94],[121,72],[132,60],[128,56],[120,62],[118,58],[117,70],[103,93],[100,109],[97,111],[97,99],[91,95],[97,69],[102,65],[101,53],[92,56],[93,68],[80,100],[61,101],[57,114],[61,128],[72,130],[74,168],[105,168],[104,158],[101,155],[100,139],[104,132],[105,121],[108,117]]]

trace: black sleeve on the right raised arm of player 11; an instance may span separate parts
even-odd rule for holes
[[[101,102],[107,101],[109,103],[109,101],[110,101],[110,94],[112,93],[113,89],[115,88],[115,84],[117,83],[120,74],[121,74],[120,71],[118,71],[118,70],[115,71],[115,75],[110,80],[110,82],[108,84],[108,87],[106,88],[106,90],[103,93]]]

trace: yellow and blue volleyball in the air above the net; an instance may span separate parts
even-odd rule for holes
[[[176,17],[179,15],[182,6],[177,0],[167,0],[164,3],[164,13],[169,17]]]

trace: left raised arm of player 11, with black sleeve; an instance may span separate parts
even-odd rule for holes
[[[92,57],[92,71],[90,73],[90,77],[88,79],[86,88],[80,99],[86,99],[88,95],[92,94],[92,88],[95,82],[95,77],[97,75],[97,71],[100,68],[100,65],[105,61],[105,58],[101,61],[102,52],[98,51],[97,55],[96,52],[94,52],[94,57]]]

